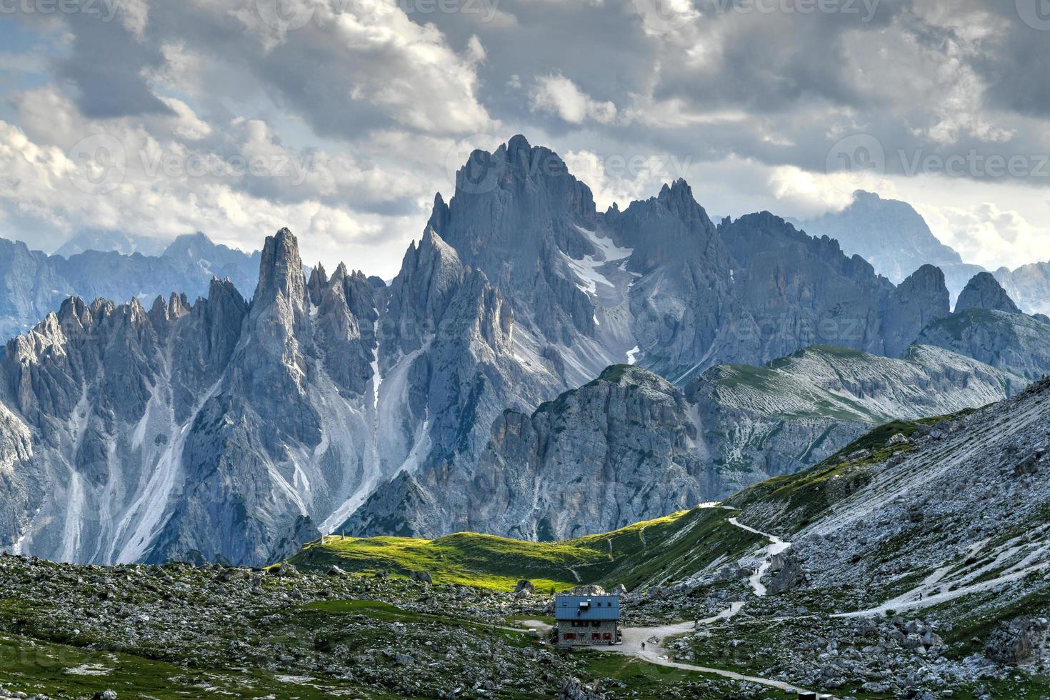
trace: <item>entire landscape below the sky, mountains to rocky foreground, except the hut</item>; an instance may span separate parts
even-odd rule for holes
[[[10,243],[0,697],[1047,695],[1040,267],[862,192],[813,227],[878,270],[799,226],[602,212],[519,135],[390,283],[288,229]],[[580,585],[615,653],[526,634]]]

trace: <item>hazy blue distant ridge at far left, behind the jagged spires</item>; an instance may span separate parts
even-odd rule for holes
[[[106,240],[110,246],[135,245],[121,236]],[[22,241],[0,238],[0,339],[33,327],[70,296],[149,300],[175,291],[195,299],[207,294],[213,276],[229,277],[243,294],[255,288],[258,253],[215,245],[203,233],[180,236],[153,256],[116,250],[74,252],[81,243],[106,247],[106,240],[75,239],[60,249],[63,254],[47,255]]]

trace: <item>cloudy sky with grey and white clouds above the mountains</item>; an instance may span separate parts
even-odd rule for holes
[[[201,230],[392,276],[472,147],[600,206],[912,203],[968,261],[1050,259],[1047,0],[0,0],[0,235]]]

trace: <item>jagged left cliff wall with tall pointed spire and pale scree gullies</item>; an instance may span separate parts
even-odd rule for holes
[[[217,279],[192,305],[65,302],[3,355],[3,402],[32,434],[16,473],[45,493],[19,490],[4,536],[63,560],[240,564],[314,536],[378,480],[375,334],[345,301],[372,289],[340,274],[313,304],[286,230],[267,239],[251,304]]]

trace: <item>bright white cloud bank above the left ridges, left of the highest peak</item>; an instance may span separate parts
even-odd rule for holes
[[[291,150],[259,120],[234,119],[219,142],[202,148],[187,139],[185,115],[86,120],[48,88],[24,93],[21,106],[25,114],[47,108],[52,119],[36,137],[0,121],[0,235],[40,248],[101,228],[158,237],[204,231],[252,250],[288,226],[308,259],[344,259],[391,276],[433,193],[432,183],[413,171],[377,167],[349,149]],[[91,134],[116,145],[104,160],[78,151],[77,143]],[[111,189],[94,191],[83,178],[85,164],[74,157],[85,155]],[[111,183],[101,176],[107,172],[117,173]],[[392,200],[406,196],[407,210]],[[403,211],[369,211],[387,206]]]

